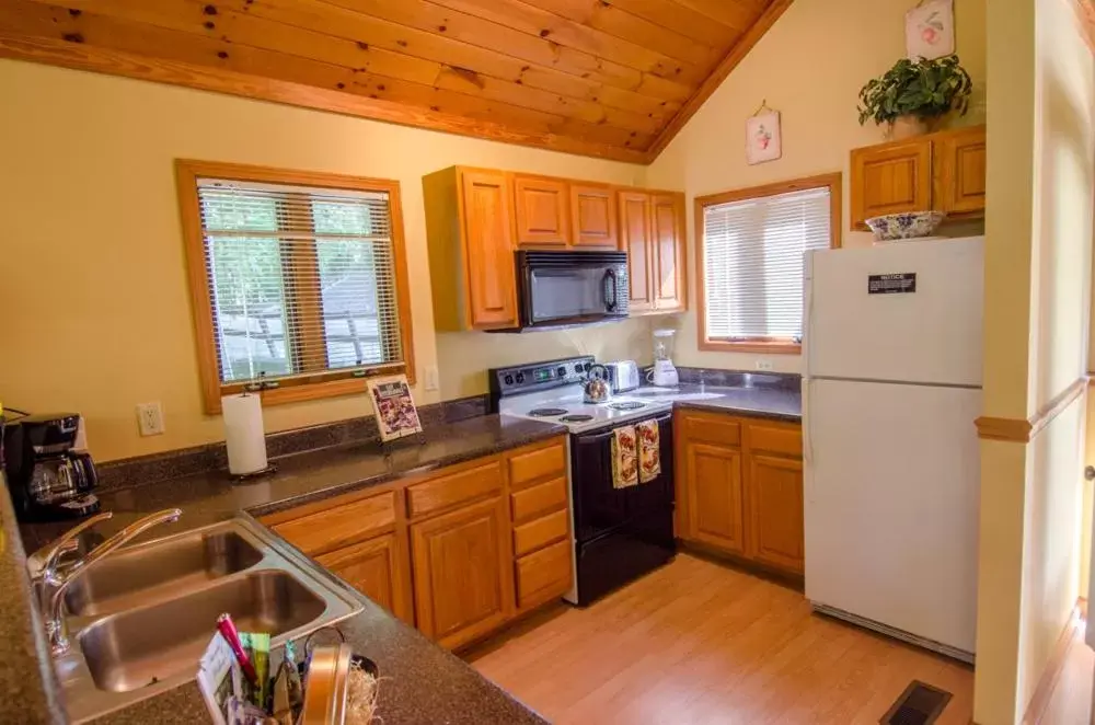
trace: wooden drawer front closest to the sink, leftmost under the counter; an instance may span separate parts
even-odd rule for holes
[[[389,492],[277,523],[274,531],[313,555],[364,541],[394,525],[395,492]]]

